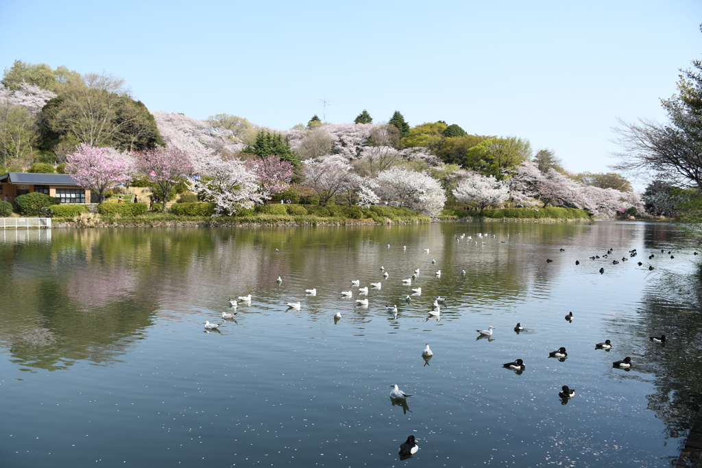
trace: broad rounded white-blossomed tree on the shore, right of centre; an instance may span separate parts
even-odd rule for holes
[[[376,178],[381,199],[390,205],[406,206],[437,217],[446,203],[446,193],[439,182],[429,175],[390,168]]]

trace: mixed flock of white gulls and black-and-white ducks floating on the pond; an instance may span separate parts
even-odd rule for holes
[[[519,233],[519,235],[521,235],[521,234],[522,233]],[[495,237],[494,234],[479,233],[476,235],[478,238]],[[509,234],[507,234],[507,236],[509,236]],[[461,241],[461,239],[465,238],[465,234],[462,234],[461,236],[456,235],[454,237],[456,238],[456,241]],[[468,243],[473,241],[472,236],[468,236],[468,239],[466,239],[466,241]],[[473,241],[473,242],[475,242],[476,245],[478,243],[478,241]],[[484,241],[481,241],[481,242],[482,242],[482,245],[486,244],[486,242],[484,242]],[[388,244],[388,248],[390,248],[390,244]],[[403,250],[406,250],[407,247],[403,246],[402,248],[403,248]],[[279,250],[276,249],[276,252],[278,252],[278,251]],[[560,251],[564,252],[565,249],[561,248]],[[602,257],[600,257],[599,255],[593,255],[592,257],[590,257],[590,260],[597,260],[600,258],[609,258],[609,255],[611,255],[613,253],[613,251],[614,251],[613,248],[609,248],[609,250],[607,250],[607,253],[602,255]],[[423,252],[429,253],[429,249],[425,248],[425,249],[423,249]],[[630,258],[634,258],[637,255],[637,250],[636,249],[629,250],[628,253],[629,253]],[[661,249],[661,253],[665,253],[665,249]],[[670,251],[668,251],[668,255],[670,255],[670,258],[675,258],[674,255],[671,255]],[[694,252],[694,255],[698,255],[698,253]],[[649,255],[649,260],[652,260],[654,257],[655,257],[654,254]],[[628,258],[623,257],[621,259],[621,262],[625,262],[627,260],[628,260]],[[546,262],[551,263],[551,262],[553,262],[553,260],[547,259]],[[580,265],[580,263],[581,262],[579,260],[576,260],[576,262],[575,262],[576,265]],[[618,260],[614,260],[612,263],[613,263],[613,265],[618,265],[618,263],[620,263],[620,262]],[[435,264],[436,264],[436,260],[432,260],[432,265],[435,265]],[[642,266],[643,264],[642,264],[642,262],[638,262],[638,265]],[[648,269],[653,270],[654,269],[653,265],[649,265]],[[388,279],[390,277],[390,274],[385,271],[385,267],[381,266],[380,271],[383,272],[384,279]],[[411,277],[401,280],[402,284],[404,286],[411,286],[412,281],[417,279],[419,272],[420,272],[419,269],[415,269]],[[600,268],[599,272],[600,272],[600,274],[604,274],[604,268]],[[434,273],[436,278],[440,278],[441,274],[442,273],[441,273],[440,269]],[[465,275],[465,270],[462,270],[461,274]],[[280,276],[278,276],[276,281],[278,284],[281,284],[283,282],[283,279]],[[352,280],[351,285],[358,288],[359,295],[368,295],[368,293],[369,293],[368,286],[360,287],[359,280],[357,280],[357,279]],[[369,283],[369,286],[371,286],[371,288],[373,288],[375,290],[380,290],[383,285],[379,281],[377,283]],[[411,288],[411,291],[412,291],[411,295],[406,295],[404,297],[404,300],[408,303],[411,302],[412,296],[420,296],[422,294],[422,288],[421,287]],[[341,295],[341,297],[348,298],[348,299],[353,297],[352,290],[339,291],[339,294]],[[316,295],[317,295],[316,288],[305,289],[305,296],[316,296]],[[251,306],[251,297],[252,297],[251,294],[249,294],[246,296],[239,296],[239,297],[237,297],[237,300],[230,299],[229,300],[230,308],[234,309],[234,312],[222,312],[222,319],[223,320],[234,319],[234,317],[237,314],[236,309],[237,309],[239,304]],[[432,308],[429,311],[429,316],[428,316],[427,320],[429,320],[431,318],[436,318],[437,321],[440,320],[441,307],[442,307],[442,303],[444,303],[445,300],[446,300],[446,297],[441,297],[440,295],[435,297],[434,302],[432,302]],[[355,302],[360,307],[369,307],[369,300],[366,297],[364,297],[362,299],[356,299]],[[289,310],[295,309],[295,310],[299,311],[301,304],[299,301],[298,302],[287,302],[286,306],[288,307]],[[394,314],[395,319],[397,319],[397,305],[395,305],[395,304],[388,305],[388,306],[385,306],[385,309],[387,310],[387,312]],[[333,316],[333,319],[336,323],[339,319],[341,319],[341,313],[337,312]],[[569,322],[572,322],[574,320],[573,312],[569,312],[569,314],[567,314],[565,316],[565,319]],[[216,328],[219,328],[221,325],[223,325],[223,322],[222,323],[210,323],[209,321],[204,322],[204,326],[205,326],[206,330],[214,330]],[[477,333],[479,333],[479,337],[491,338],[493,335],[493,330],[495,330],[495,327],[489,326],[486,330],[476,329],[475,331]],[[524,327],[522,326],[521,323],[517,323],[514,330],[515,330],[515,332],[519,333],[522,330],[524,330]],[[661,335],[660,337],[651,336],[651,337],[649,337],[649,340],[651,340],[651,342],[661,343],[663,346],[665,346],[665,335]],[[611,347],[612,347],[611,340],[605,340],[604,342],[597,343],[595,345],[595,349],[605,349],[607,351],[609,351],[609,349],[611,349]],[[425,365],[428,364],[429,359],[431,359],[433,355],[434,355],[434,353],[430,349],[429,344],[428,343],[425,344],[425,349],[422,352],[422,357],[425,359]],[[552,357],[552,358],[559,359],[559,361],[565,361],[565,359],[568,356],[568,353],[567,353],[565,347],[560,347],[559,349],[556,349],[555,351],[549,352],[548,356],[550,358]],[[612,363],[612,368],[618,368],[618,369],[623,369],[623,370],[629,370],[631,368],[631,366],[632,366],[632,363],[631,363],[630,356],[626,356],[624,359],[622,359],[620,361],[614,361]],[[524,361],[522,359],[515,359],[515,361],[504,363],[503,367],[514,370],[515,373],[521,374],[522,371],[524,371],[524,369],[526,369],[527,366],[524,364]],[[399,389],[399,386],[397,384],[392,384],[392,385],[390,385],[390,387],[392,388],[392,390],[390,391],[390,399],[393,401],[393,405],[396,405],[396,404],[401,405],[406,410],[407,408],[406,408],[405,400],[412,395],[404,393],[402,390]],[[558,393],[558,396],[559,396],[559,398],[562,399],[562,404],[567,404],[567,402],[570,399],[574,398],[575,394],[576,394],[575,389],[572,389],[568,385],[563,385],[561,388],[561,392]],[[416,443],[416,437],[411,435],[400,446],[399,456],[400,456],[401,460],[404,460],[407,457],[413,457],[413,455],[415,455],[418,450],[419,450],[419,446]]]

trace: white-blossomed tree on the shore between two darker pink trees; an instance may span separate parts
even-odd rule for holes
[[[251,208],[263,201],[256,174],[247,170],[241,159],[214,158],[202,169],[201,176],[190,180],[190,187],[202,199],[215,203],[215,215],[234,215],[241,208]]]

